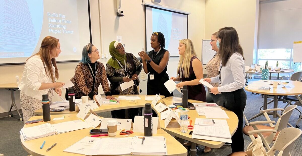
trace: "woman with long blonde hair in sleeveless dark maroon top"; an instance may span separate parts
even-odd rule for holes
[[[206,101],[206,91],[199,82],[203,78],[201,61],[196,57],[193,42],[190,39],[179,41],[178,53],[180,55],[177,77],[171,77],[173,81],[180,81],[176,87],[188,86],[188,98],[198,101]]]

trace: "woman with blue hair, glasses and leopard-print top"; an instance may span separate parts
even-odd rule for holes
[[[88,43],[88,45],[84,46],[82,59],[76,66],[75,75],[70,80],[75,85],[73,90],[76,99],[88,96],[90,99],[95,100],[100,84],[106,98],[114,99],[111,96],[104,64],[97,61],[99,58],[99,51],[93,44]],[[66,89],[65,98],[68,99],[68,89]]]

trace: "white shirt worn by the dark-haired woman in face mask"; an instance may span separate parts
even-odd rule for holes
[[[244,87],[246,79],[243,57],[239,53],[233,53],[226,65],[221,67],[221,86],[219,92],[233,92]],[[218,83],[219,75],[211,78],[211,83]]]

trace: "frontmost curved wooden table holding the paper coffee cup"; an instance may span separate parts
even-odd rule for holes
[[[50,123],[50,124],[55,124],[55,123],[61,123],[61,122],[66,122],[66,121],[71,121],[71,120],[78,120],[79,118],[76,117],[76,114],[69,114],[65,115],[64,120],[52,120],[54,117],[61,117],[62,115],[51,115],[51,120],[48,122],[40,122],[40,123],[33,123],[29,125],[24,125],[25,127],[31,127],[31,126],[37,126],[40,124],[44,123]],[[41,116],[34,116],[31,117],[30,120],[36,120],[41,118]],[[21,139],[21,145],[30,154],[33,154],[34,156],[54,156],[54,155],[64,155],[64,156],[83,156],[82,154],[74,154],[74,153],[68,153],[68,152],[63,152],[63,150],[70,145],[76,143],[77,141],[81,140],[85,136],[90,136],[89,131],[92,128],[89,129],[79,129],[71,132],[66,132],[66,133],[61,133],[53,136],[47,136],[43,138],[38,138],[34,140],[28,140],[28,141],[23,141],[20,135]],[[131,134],[131,136],[144,136],[144,133],[137,133],[134,132]],[[165,132],[162,129],[157,130],[157,134],[153,134],[153,136],[164,136],[166,139],[167,143],[167,151],[169,156],[186,156],[187,155],[187,149],[180,144],[174,137],[172,137],[170,134]],[[109,137],[109,136],[102,136],[102,137]],[[117,135],[116,137],[126,137],[123,135]],[[42,145],[43,141],[45,142],[45,145],[42,149],[40,149],[40,146]],[[51,145],[57,142],[57,145],[53,147],[50,151],[46,152],[46,149],[49,148]]]

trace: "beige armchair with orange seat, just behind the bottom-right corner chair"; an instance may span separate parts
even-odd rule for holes
[[[253,121],[253,122],[249,122],[248,125],[249,126],[245,126],[243,128],[243,133],[245,135],[248,135],[252,140],[254,140],[257,137],[257,134],[261,137],[262,142],[264,147],[266,147],[267,149],[270,149],[270,144],[276,140],[276,137],[278,136],[278,133],[287,127],[288,125],[288,120],[293,112],[293,110],[297,107],[297,105],[291,105],[288,108],[286,108],[284,110],[284,114],[282,114],[277,123],[274,125],[273,123],[275,123],[275,121],[271,121],[271,119],[268,117],[267,112],[268,111],[283,111],[282,108],[274,108],[274,109],[266,109],[261,111],[259,114],[264,115],[266,118],[266,121]],[[267,125],[262,125],[262,124],[269,124],[269,126]],[[265,132],[265,133],[260,133],[260,131],[262,129],[270,129],[270,130],[274,130],[274,132]],[[251,131],[253,130],[259,130],[256,132],[259,132],[257,134],[254,135],[249,135]]]

